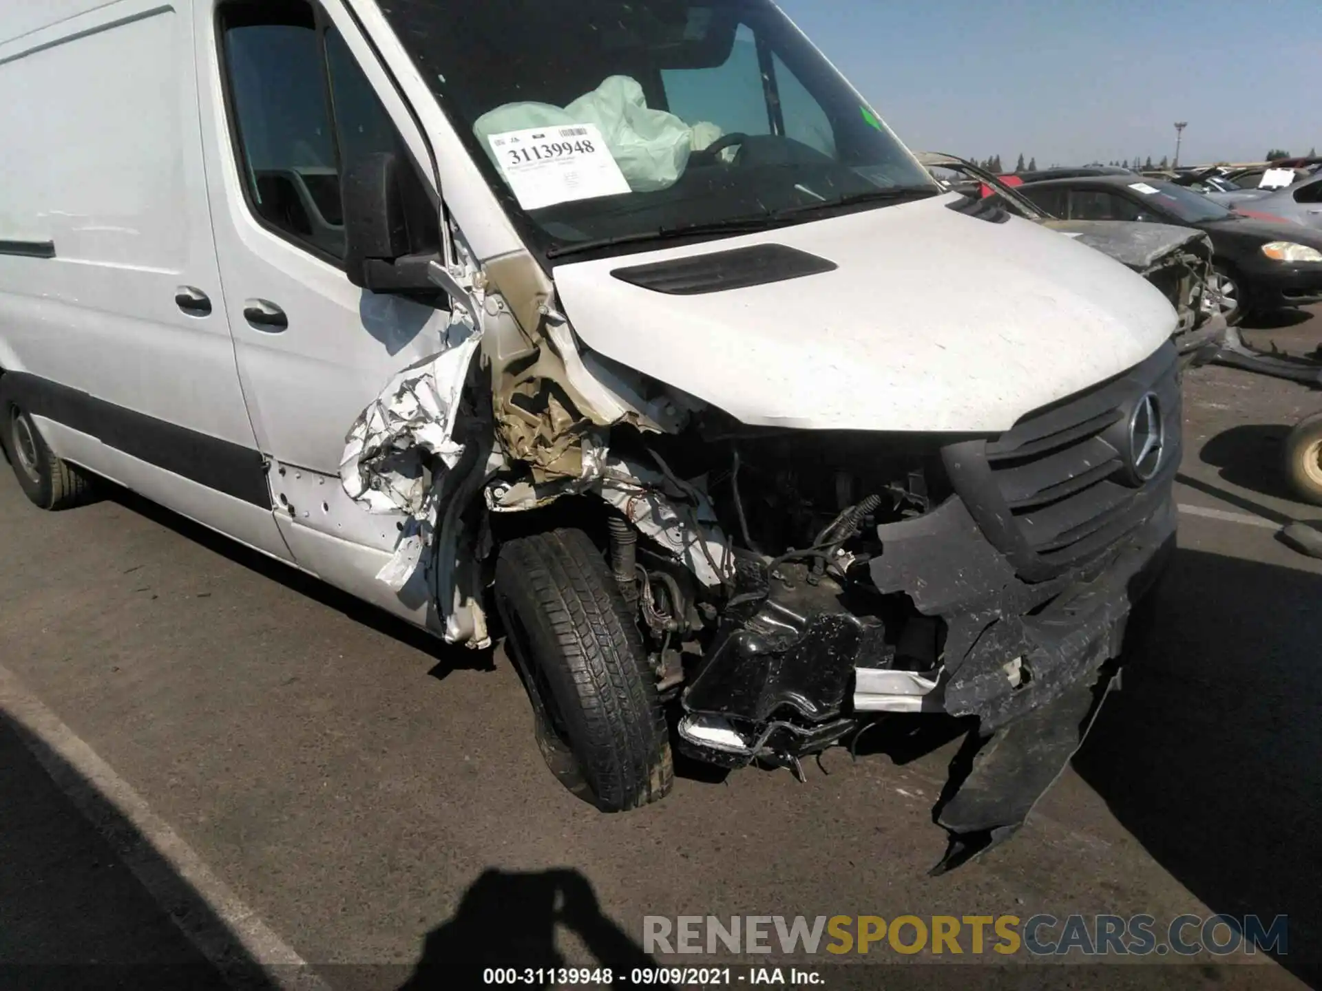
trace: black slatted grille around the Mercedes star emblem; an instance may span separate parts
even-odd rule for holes
[[[1130,423],[1145,396],[1163,427],[1155,474],[1138,477]],[[956,492],[1029,580],[1097,558],[1146,521],[1181,459],[1178,355],[1170,344],[1129,371],[1030,414],[992,441],[944,452]]]

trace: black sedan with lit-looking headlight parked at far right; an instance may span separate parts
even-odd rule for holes
[[[1196,227],[1212,239],[1212,300],[1227,322],[1248,311],[1322,301],[1322,233],[1244,217],[1202,193],[1138,176],[1029,182],[1034,203],[1072,221],[1140,221]]]

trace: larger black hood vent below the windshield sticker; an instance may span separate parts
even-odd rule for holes
[[[674,262],[616,268],[611,275],[620,281],[668,296],[701,296],[706,292],[747,289],[750,285],[834,272],[838,267],[825,258],[785,244],[758,244],[711,255],[691,255]]]

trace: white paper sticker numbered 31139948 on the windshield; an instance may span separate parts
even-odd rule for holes
[[[631,192],[596,124],[506,131],[486,140],[525,210]]]

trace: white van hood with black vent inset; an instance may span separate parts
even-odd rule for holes
[[[553,275],[588,348],[771,427],[995,433],[1138,365],[1174,333],[1170,303],[1118,262],[1029,221],[949,209],[960,201],[567,263]],[[669,292],[619,276],[765,244],[830,264],[742,288],[713,279],[694,292],[689,280],[689,295],[664,277],[641,281]]]

